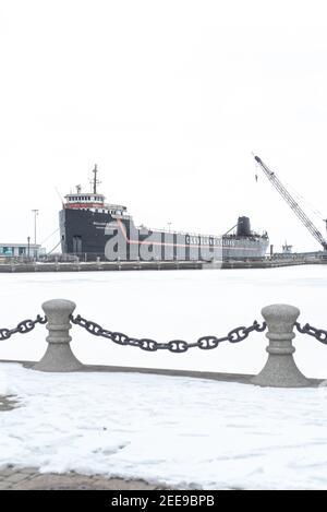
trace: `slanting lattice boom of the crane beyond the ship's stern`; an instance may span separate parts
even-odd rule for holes
[[[294,214],[298,215],[302,224],[304,224],[312,236],[323,246],[324,251],[327,251],[327,240],[323,237],[319,229],[317,229],[316,226],[311,222],[296,201],[291,197],[276,174],[272,172],[272,170],[270,170],[269,167],[267,167],[258,156],[255,156],[254,158],[267,176],[268,180],[274,184],[280,195],[286,200],[288,205],[293,210]]]

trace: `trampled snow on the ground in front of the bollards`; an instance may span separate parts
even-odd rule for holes
[[[0,364],[0,467],[204,489],[327,487],[327,389],[178,377],[49,374]]]

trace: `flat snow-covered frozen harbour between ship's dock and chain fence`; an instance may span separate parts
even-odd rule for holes
[[[195,341],[225,335],[239,325],[262,320],[263,306],[298,306],[302,323],[327,329],[327,265],[265,270],[161,272],[89,272],[69,274],[0,274],[0,326],[12,328],[41,312],[41,302],[66,298],[76,312],[109,330],[157,341]],[[0,345],[0,359],[36,360],[45,352],[46,329],[15,335]],[[186,354],[148,354],[120,347],[72,330],[72,348],[88,364],[179,368],[204,371],[258,372],[267,340],[254,333],[239,345]],[[327,378],[327,346],[308,336],[295,338],[295,360],[307,377]]]

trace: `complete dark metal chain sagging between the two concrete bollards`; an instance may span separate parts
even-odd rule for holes
[[[129,345],[132,347],[138,347],[142,350],[147,352],[166,349],[178,354],[184,353],[189,350],[189,348],[194,347],[201,348],[203,350],[210,350],[211,348],[218,347],[218,345],[222,342],[243,342],[243,340],[245,340],[253,331],[263,332],[266,329],[266,322],[261,325],[255,320],[250,328],[241,326],[233,329],[227,334],[227,336],[223,337],[203,336],[198,338],[195,343],[186,343],[182,340],[172,340],[168,343],[158,343],[149,338],[137,340],[135,337],[130,337],[126,334],[120,332],[108,331],[106,329],[102,329],[101,325],[99,325],[98,323],[82,318],[81,314],[77,314],[77,317],[73,317],[71,314],[70,320],[72,321],[72,323],[74,323],[75,325],[80,325],[94,336],[106,337],[107,340],[111,340],[111,342],[117,343],[118,345]]]

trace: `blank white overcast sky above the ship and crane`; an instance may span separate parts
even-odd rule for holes
[[[56,188],[97,163],[137,224],[222,234],[242,214],[276,249],[319,249],[251,152],[325,235],[326,2],[0,0],[0,242],[34,236],[32,209],[44,240]]]

